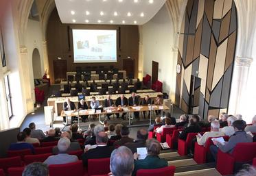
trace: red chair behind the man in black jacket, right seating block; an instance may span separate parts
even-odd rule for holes
[[[178,154],[183,156],[187,155],[187,147],[191,145],[191,140],[196,137],[198,133],[189,133],[187,134],[187,139],[182,140],[178,139]]]

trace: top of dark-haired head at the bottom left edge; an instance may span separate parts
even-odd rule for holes
[[[25,166],[22,176],[49,176],[48,167],[42,162],[33,162]]]

